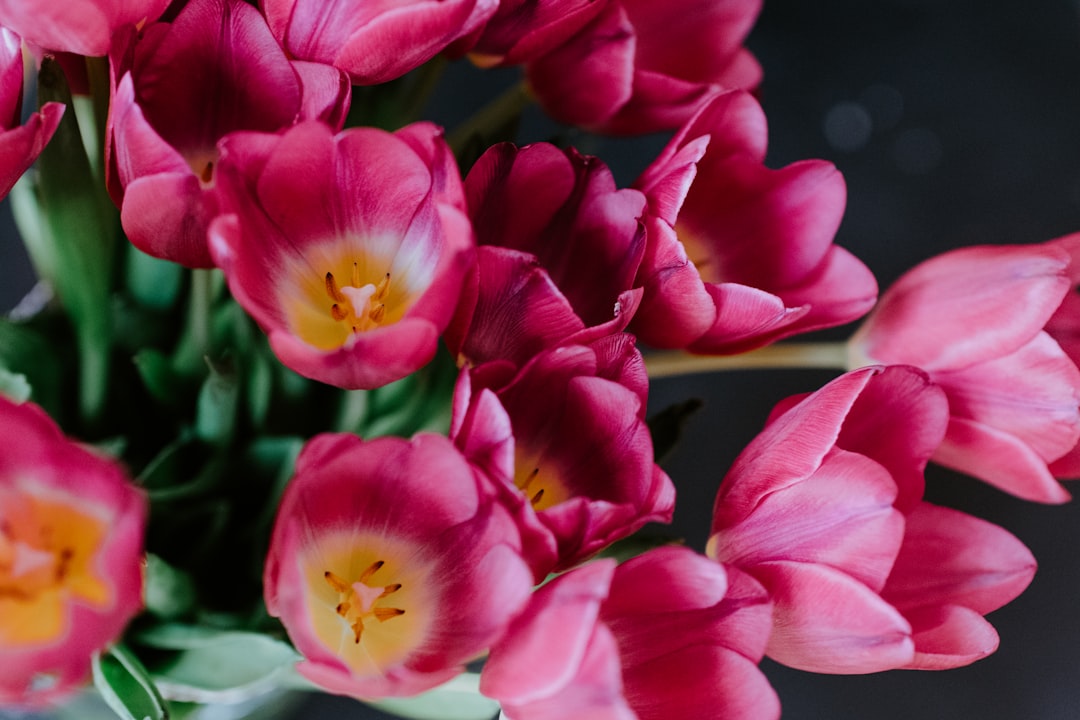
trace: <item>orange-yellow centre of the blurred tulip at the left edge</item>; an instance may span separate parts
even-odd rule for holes
[[[0,646],[39,644],[67,631],[67,604],[108,608],[94,559],[108,533],[84,500],[0,493]]]

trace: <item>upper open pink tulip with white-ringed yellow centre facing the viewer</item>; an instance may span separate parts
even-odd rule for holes
[[[442,132],[307,122],[221,147],[211,253],[278,357],[349,389],[426,365],[474,254]]]

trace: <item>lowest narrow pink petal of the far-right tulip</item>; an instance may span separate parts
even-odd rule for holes
[[[1024,500],[1064,503],[1070,498],[1031,446],[973,420],[951,418],[933,460]]]

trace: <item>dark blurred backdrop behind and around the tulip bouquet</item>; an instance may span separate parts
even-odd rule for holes
[[[1075,0],[767,0],[748,45],[765,67],[769,165],[807,158],[836,163],[848,182],[837,242],[862,258],[882,287],[948,248],[1080,231]],[[432,117],[449,127],[465,117],[481,92],[477,77],[464,64],[451,68]],[[508,70],[486,82],[516,78]],[[551,132],[539,113],[527,118],[529,139]],[[580,136],[577,144],[611,165],[624,186],[664,141]],[[0,242],[0,279],[3,308],[32,284],[10,231]],[[664,465],[679,493],[674,534],[703,549],[719,480],[769,409],[834,375],[740,371],[653,383],[651,412],[691,396],[704,400]],[[930,500],[1004,526],[1039,559],[1030,588],[990,616],[1000,650],[971,667],[934,674],[829,677],[766,662],[784,717],[1080,717],[1080,507],[1026,503],[940,468],[928,479]],[[311,696],[294,717],[391,716]]]

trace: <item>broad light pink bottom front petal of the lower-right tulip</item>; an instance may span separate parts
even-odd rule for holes
[[[768,562],[752,574],[769,590],[774,625],[766,654],[811,673],[858,675],[912,662],[912,627],[851,576],[815,565]]]

